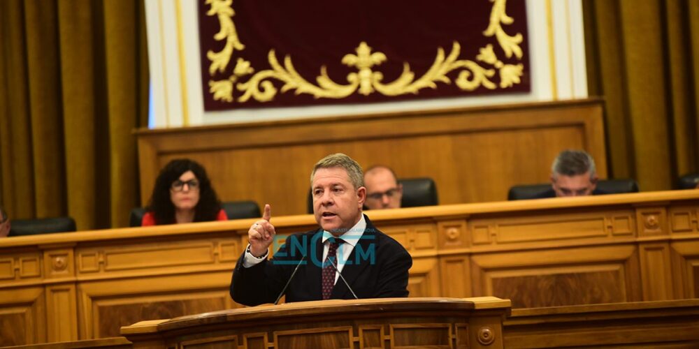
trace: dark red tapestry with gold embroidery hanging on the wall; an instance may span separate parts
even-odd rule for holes
[[[206,110],[527,92],[524,0],[200,0]]]

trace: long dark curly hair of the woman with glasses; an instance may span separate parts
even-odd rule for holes
[[[194,221],[215,221],[221,210],[219,201],[211,181],[206,175],[206,170],[194,160],[188,158],[176,158],[170,161],[155,179],[153,193],[150,195],[147,211],[152,211],[155,223],[175,223],[175,205],[170,199],[170,188],[174,181],[180,179],[183,173],[192,171],[199,181],[199,202],[194,207]]]

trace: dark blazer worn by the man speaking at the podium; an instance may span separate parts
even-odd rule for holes
[[[408,297],[410,254],[376,229],[367,216],[364,219],[366,230],[347,258],[342,275],[359,298]],[[273,303],[303,255],[305,260],[285,292],[286,302],[322,299],[322,232],[318,229],[291,235],[271,260],[250,268],[243,267],[243,253],[233,270],[233,300],[247,306]],[[336,282],[330,298],[354,299],[342,279]]]

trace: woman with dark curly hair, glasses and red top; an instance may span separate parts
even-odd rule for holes
[[[181,158],[170,161],[158,174],[141,225],[226,219],[206,170],[196,161]]]

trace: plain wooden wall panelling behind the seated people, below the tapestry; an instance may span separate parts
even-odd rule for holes
[[[606,177],[602,103],[565,101],[292,121],[140,130],[143,205],[162,166],[189,157],[224,201],[305,214],[312,166],[343,152],[363,167],[432,177],[442,204],[505,200],[510,186],[549,180],[559,151],[586,149]],[[487,185],[484,185],[487,184]]]

